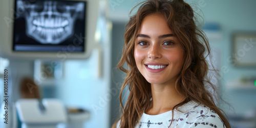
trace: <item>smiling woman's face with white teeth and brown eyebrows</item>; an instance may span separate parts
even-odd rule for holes
[[[142,20],[134,48],[137,68],[152,84],[175,83],[182,68],[183,50],[162,15]]]

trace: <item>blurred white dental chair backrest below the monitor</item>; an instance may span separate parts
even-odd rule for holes
[[[67,122],[65,106],[58,99],[19,99],[15,105],[22,128],[65,127],[61,124]]]

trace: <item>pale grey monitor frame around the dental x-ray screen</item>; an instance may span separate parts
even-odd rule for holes
[[[79,35],[74,33],[76,40],[84,39],[84,52],[69,52],[62,50],[58,52],[37,52],[37,51],[13,51],[13,34],[14,34],[14,19],[15,14],[15,1],[3,3],[4,9],[8,8],[7,11],[3,12],[3,17],[6,20],[0,21],[3,24],[3,29],[0,30],[0,37],[3,39],[0,41],[0,56],[9,59],[55,59],[55,60],[66,60],[66,59],[85,59],[91,55],[92,50],[96,46],[95,31],[98,18],[98,7],[99,0],[61,0],[61,1],[81,1],[86,2],[86,17],[85,24],[85,35]],[[23,0],[29,1],[29,0]],[[60,0],[59,0],[60,1]],[[8,6],[7,6],[8,4]],[[4,16],[5,15],[5,16]],[[2,17],[2,16],[1,16]],[[10,22],[8,22],[10,20]],[[75,40],[74,42],[75,43]],[[71,49],[72,46],[70,46]]]

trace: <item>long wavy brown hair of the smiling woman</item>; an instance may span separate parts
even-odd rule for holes
[[[116,127],[119,120],[120,127],[135,127],[143,112],[150,106],[151,84],[136,67],[134,44],[143,18],[156,13],[164,16],[184,52],[183,67],[176,80],[176,89],[186,99],[175,105],[173,110],[188,101],[197,101],[214,110],[226,127],[230,127],[225,113],[217,107],[212,93],[208,90],[209,87],[215,90],[208,77],[208,72],[212,70],[211,63],[206,60],[210,55],[210,47],[205,34],[195,23],[193,9],[183,0],[150,0],[139,5],[141,6],[137,13],[130,18],[125,28],[122,57],[118,63],[118,68],[126,73],[119,96],[122,115],[112,128]],[[122,93],[125,87],[129,87],[130,93],[123,105]]]

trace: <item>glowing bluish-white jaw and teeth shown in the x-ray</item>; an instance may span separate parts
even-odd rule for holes
[[[17,1],[17,8],[24,9],[26,34],[41,44],[59,44],[74,33],[74,22],[82,19],[84,3],[70,4],[65,1],[40,1],[25,5]]]

